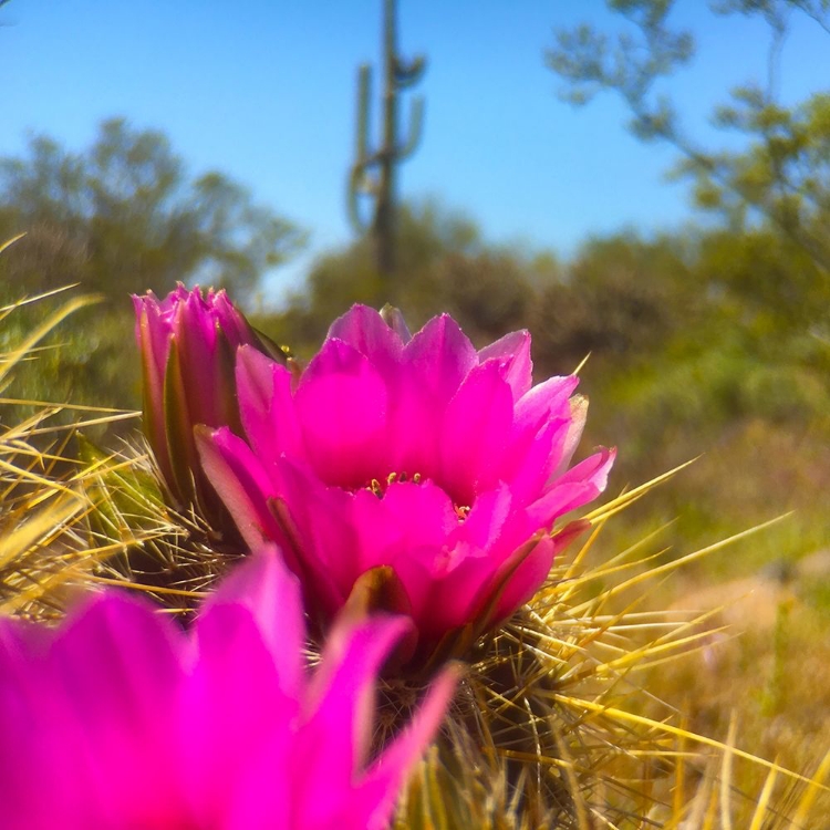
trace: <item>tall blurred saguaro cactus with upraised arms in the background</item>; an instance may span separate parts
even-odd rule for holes
[[[372,68],[364,63],[357,71],[357,144],[349,176],[349,216],[357,234],[371,232],[377,271],[391,282],[395,270],[395,169],[415,152],[424,123],[424,98],[417,95],[411,102],[406,139],[401,141],[397,96],[421,80],[426,60],[423,55],[408,62],[401,58],[395,0],[384,0],[383,12],[383,141],[377,149],[370,151]],[[370,217],[361,214],[362,195],[374,201]]]

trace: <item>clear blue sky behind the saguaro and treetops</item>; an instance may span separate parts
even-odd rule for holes
[[[673,153],[630,137],[619,102],[573,110],[557,97],[543,50],[554,27],[619,25],[601,0],[398,2],[402,52],[429,61],[403,197],[438,197],[492,241],[566,256],[590,234],[693,216],[686,188],[664,179]],[[0,155],[20,153],[28,129],[81,148],[113,115],[160,128],[194,173],[220,169],[311,231],[309,253],[273,280],[295,286],[310,257],[351,238],[355,74],[380,63],[380,11],[381,0],[11,0],[0,9]],[[703,0],[679,0],[676,20],[699,56],[671,91],[706,138],[724,90],[760,76],[766,30],[714,18]],[[782,98],[826,83],[828,55],[827,35],[798,24]]]

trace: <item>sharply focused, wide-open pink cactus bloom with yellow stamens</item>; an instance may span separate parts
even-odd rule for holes
[[[544,582],[605,487],[614,450],[569,469],[577,377],[531,380],[530,335],[477,352],[448,315],[409,338],[355,305],[299,382],[243,346],[245,439],[197,429],[204,467],[249,544],[280,542],[325,625],[355,585],[408,614],[404,661],[459,656]],[[554,532],[551,532],[554,531]]]

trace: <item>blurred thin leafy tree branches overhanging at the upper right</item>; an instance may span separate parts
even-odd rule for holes
[[[830,270],[830,93],[795,106],[777,101],[780,56],[793,14],[830,33],[830,7],[809,0],[727,0],[713,3],[719,14],[760,17],[770,44],[764,84],[750,80],[717,107],[714,123],[738,133],[737,151],[717,151],[695,141],[681,126],[679,113],[655,86],[688,62],[694,40],[673,31],[671,0],[610,0],[629,22],[611,41],[589,25],[561,31],[548,51],[548,65],[566,81],[564,96],[583,104],[601,90],[627,105],[631,131],[646,141],[664,141],[682,156],[675,176],[693,180],[695,203],[725,218],[735,231],[764,226],[802,249],[815,268]]]

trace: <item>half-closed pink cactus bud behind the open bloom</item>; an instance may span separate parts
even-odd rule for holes
[[[199,469],[196,424],[239,428],[234,381],[237,349],[269,351],[225,291],[183,284],[164,300],[133,297],[144,375],[144,429],[170,495],[180,507],[220,509]]]

